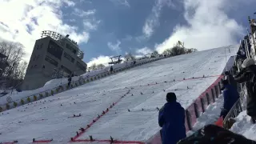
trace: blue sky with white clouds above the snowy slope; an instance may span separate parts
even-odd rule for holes
[[[42,30],[70,34],[84,61],[162,52],[175,42],[206,50],[237,44],[255,0],[0,0],[0,41],[21,42],[26,61]]]

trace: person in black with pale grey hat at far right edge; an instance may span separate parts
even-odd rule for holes
[[[242,63],[242,68],[238,75],[234,78],[238,83],[246,82],[246,109],[247,114],[251,117],[253,123],[256,121],[256,66],[254,59],[247,58]]]

